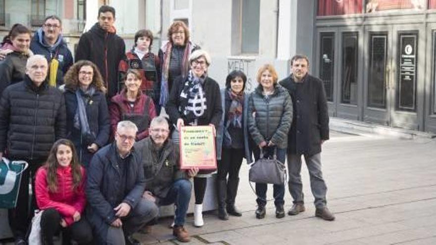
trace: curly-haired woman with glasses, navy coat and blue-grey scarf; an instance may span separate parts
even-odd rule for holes
[[[74,143],[80,163],[88,166],[94,153],[109,140],[106,88],[99,69],[88,60],[72,65],[64,82],[67,138]]]

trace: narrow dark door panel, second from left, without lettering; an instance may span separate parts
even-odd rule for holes
[[[341,103],[357,104],[358,34],[342,34],[342,96]]]

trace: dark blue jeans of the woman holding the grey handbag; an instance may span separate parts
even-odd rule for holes
[[[272,156],[275,147],[264,147],[264,157]],[[255,147],[253,149],[254,159],[258,160],[260,158],[260,149]],[[277,160],[284,164],[286,158],[286,149],[277,148]],[[267,204],[267,188],[268,185],[264,183],[256,183],[256,195],[258,196],[256,202],[259,206],[265,206]],[[284,204],[284,184],[283,185],[272,185],[274,205],[279,206]]]

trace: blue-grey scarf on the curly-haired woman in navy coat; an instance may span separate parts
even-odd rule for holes
[[[91,102],[91,98],[95,93],[95,87],[90,86],[87,91],[82,91],[81,89],[76,89],[76,98],[77,98],[77,110],[74,115],[74,127],[76,129],[80,129],[82,136],[87,136],[91,134],[91,130],[89,128],[88,117],[86,115],[86,103]]]

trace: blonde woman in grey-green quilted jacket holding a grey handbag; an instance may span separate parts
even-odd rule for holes
[[[257,73],[259,86],[248,100],[248,130],[257,147],[253,153],[255,160],[263,151],[265,157],[276,156],[284,163],[287,136],[292,122],[292,100],[286,89],[277,84],[277,72],[271,64],[265,64]],[[273,185],[275,217],[284,217],[284,184]],[[267,184],[256,183],[258,208],[256,218],[265,218],[267,204]]]

